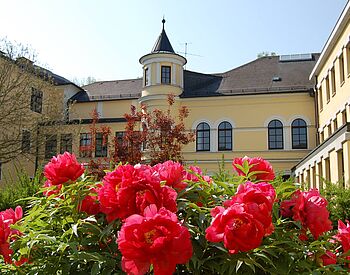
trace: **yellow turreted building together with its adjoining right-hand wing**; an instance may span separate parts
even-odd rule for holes
[[[187,60],[172,48],[163,21],[153,49],[139,60],[142,78],[98,81],[82,88],[64,80],[56,86],[64,95],[66,120],[59,128],[40,127],[39,134],[49,133],[50,139],[34,157],[40,164],[64,151],[75,153],[81,162],[108,157],[113,152],[103,145],[102,135],[91,140],[94,109],[98,126],[108,126],[112,137],[120,138],[131,105],[164,108],[167,96],[174,94],[175,108],[187,106],[190,111],[186,128],[196,133],[195,142],[183,148],[186,164],[212,173],[222,159],[230,169],[234,157],[261,156],[276,171],[294,171],[300,182],[310,181],[311,186],[320,187],[318,175],[348,184],[349,16],[347,4],[321,54],[266,56],[216,74],[186,70]],[[81,151],[92,143],[93,152]]]

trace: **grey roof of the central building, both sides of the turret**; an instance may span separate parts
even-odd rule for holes
[[[258,58],[225,73],[203,74],[184,71],[183,98],[309,92],[315,83],[308,76],[319,54],[310,60],[281,61],[279,56]],[[77,102],[137,99],[141,96],[142,78],[99,81],[83,86],[71,99]]]

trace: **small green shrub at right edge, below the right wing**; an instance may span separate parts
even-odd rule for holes
[[[350,219],[350,189],[338,183],[327,182],[321,193],[328,201],[327,208],[334,226],[337,226],[338,220]]]

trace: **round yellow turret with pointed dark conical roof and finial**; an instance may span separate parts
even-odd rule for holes
[[[173,94],[179,96],[184,87],[183,66],[187,60],[176,54],[163,29],[151,53],[140,58],[143,66],[143,88],[140,103],[149,107],[162,107],[167,105],[167,97]]]

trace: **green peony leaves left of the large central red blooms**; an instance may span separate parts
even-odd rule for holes
[[[23,235],[14,243],[14,258],[31,259],[18,268],[24,274],[120,273],[115,228],[102,216],[79,211],[82,199],[95,186],[89,179],[63,186],[57,197],[33,197],[31,208],[14,228]],[[113,273],[114,274],[114,273]]]

